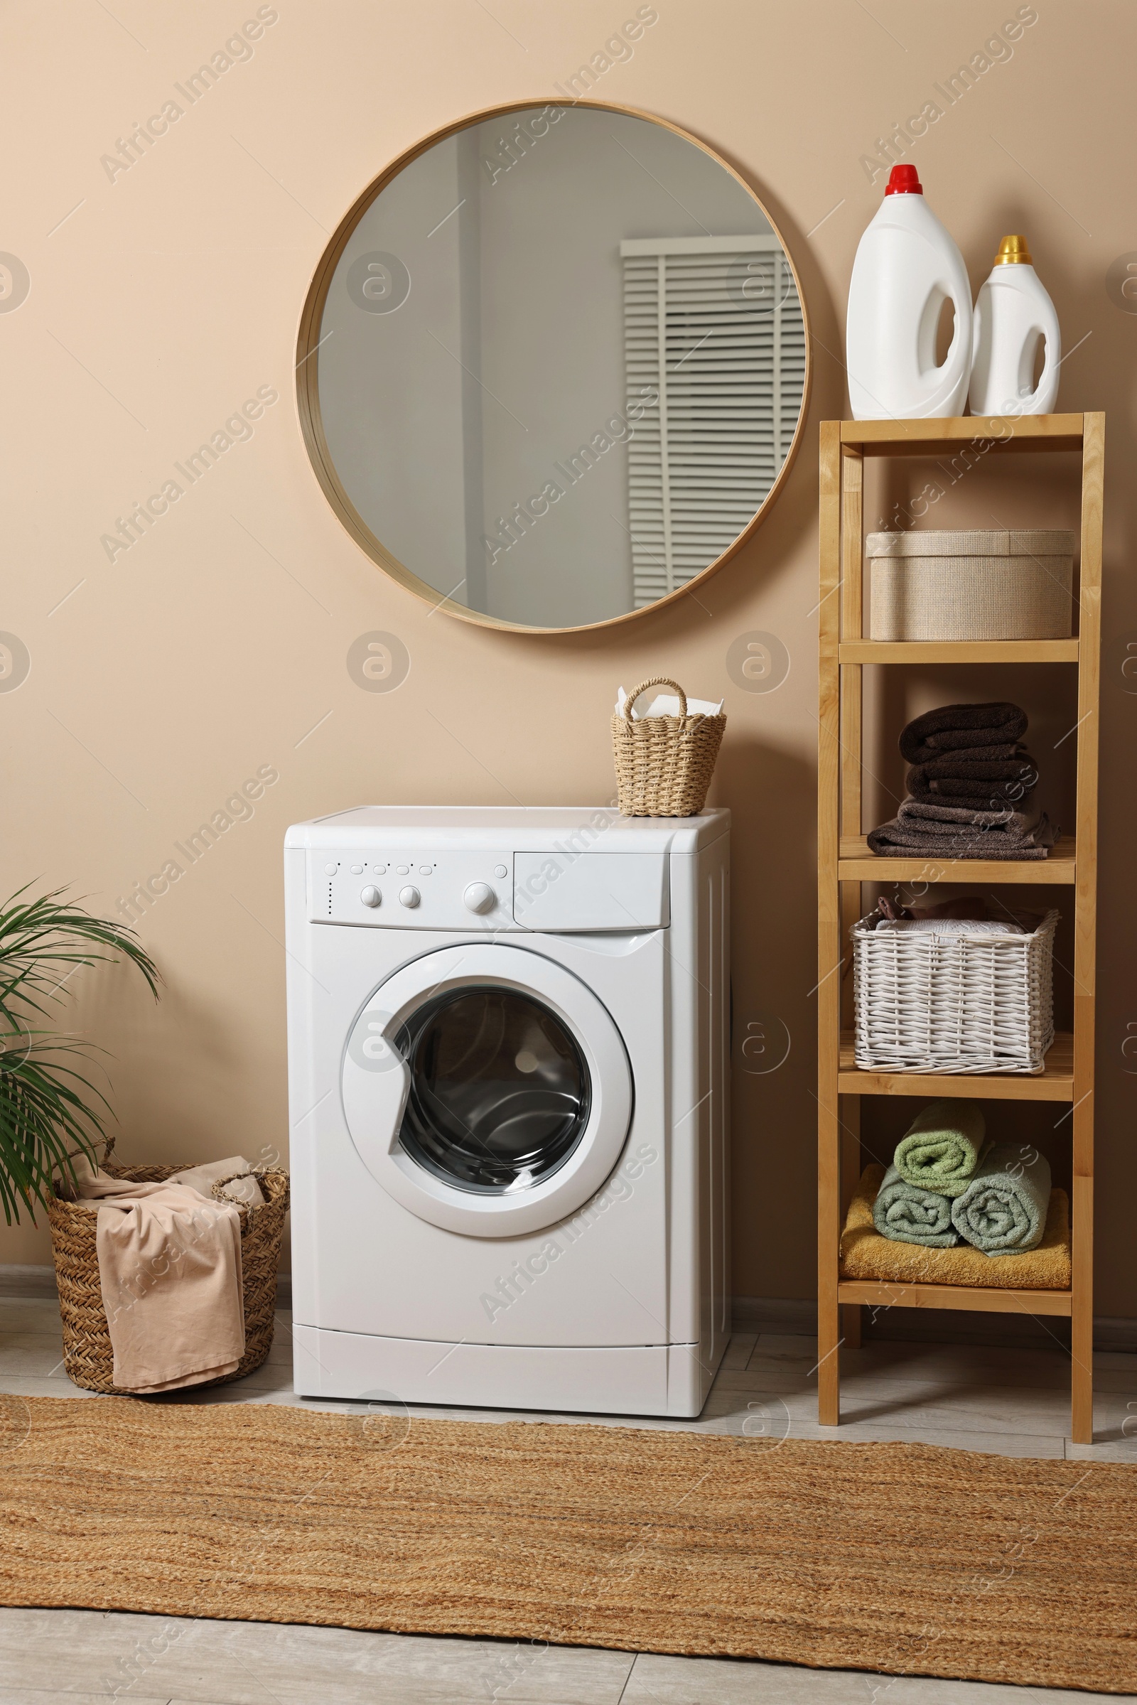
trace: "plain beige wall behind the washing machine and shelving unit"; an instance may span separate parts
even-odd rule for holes
[[[817,423],[846,413],[842,310],[881,191],[859,157],[938,99],[932,85],[1014,15],[1013,0],[658,0],[631,61],[600,78],[598,97],[690,128],[767,199],[803,280],[813,401],[786,489],[699,604],[563,639],[430,616],[361,556],[310,474],[291,351],[327,234],[360,188],[459,113],[551,97],[634,7],[280,0],[252,60],[109,182],[101,155],[256,9],[116,0],[113,10],[39,0],[0,20],[5,119],[19,143],[0,247],[31,273],[27,300],[0,314],[2,626],[31,651],[29,679],[0,694],[3,892],[73,883],[113,909],[259,766],[280,774],[256,815],[148,914],[145,941],[167,979],[160,1008],[118,974],[84,989],[78,1021],[114,1054],[121,1147],[177,1159],[286,1149],[288,822],[360,801],[605,800],[614,689],[668,670],[701,696],[726,692],[713,798],[736,813],[736,1020],[745,1033],[774,1014],[793,1042],[777,1071],[736,1072],[736,1289],[811,1294]],[[1137,1313],[1137,1079],[1122,1055],[1137,1021],[1137,696],[1120,670],[1127,639],[1137,641],[1137,317],[1106,293],[1110,263],[1137,249],[1135,53],[1137,15],[1123,0],[1038,0],[1014,56],[909,155],[975,286],[997,239],[1028,234],[1071,351],[1060,402],[1108,411],[1098,1308],[1111,1315]],[[101,534],[261,385],[280,402],[252,438],[107,561]],[[881,513],[907,479],[893,476]],[[1042,496],[984,469],[938,522],[1014,512],[1053,523],[1062,501],[1060,486]],[[348,675],[348,648],[373,629],[409,651],[395,692],[363,692]],[[726,673],[728,646],[753,629],[789,651],[777,692],[743,692]],[[948,677],[943,691],[955,691]],[[1059,699],[1040,684],[1031,692],[1052,745]],[[905,702],[893,709],[903,716]],[[0,1233],[0,1260],[46,1255],[43,1231]]]

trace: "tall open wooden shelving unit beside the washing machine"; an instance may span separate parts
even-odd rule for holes
[[[987,438],[985,454],[1077,450],[1081,481],[1079,631],[1074,639],[880,643],[863,634],[866,455],[944,455]],[[1018,421],[825,421],[820,500],[820,709],[818,709],[818,1422],[840,1422],[842,1344],[861,1342],[861,1306],[956,1308],[1071,1318],[1072,1437],[1093,1442],[1093,1088],[1094,929],[1098,835],[1098,660],[1101,612],[1103,414],[1042,414]],[[1069,663],[1077,670],[1076,834],[1047,859],[878,858],[861,824],[861,691],[866,665]],[[997,697],[997,691],[992,691]],[[897,735],[900,730],[897,730]],[[926,1076],[857,1071],[849,1033],[852,953],[863,881],[1036,883],[1072,888],[1074,1032],[1055,1037],[1040,1076]],[[1069,910],[1069,904],[1062,905]],[[844,1009],[844,1011],[842,1011]],[[844,1020],[844,1032],[842,1032]],[[861,1096],[977,1096],[1069,1103],[1072,1144],[1072,1286],[1069,1291],[1001,1291],[842,1279],[844,1214],[861,1175]],[[844,1335],[842,1335],[844,1309]]]

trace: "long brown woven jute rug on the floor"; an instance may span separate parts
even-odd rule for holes
[[[0,1603],[1123,1693],[1137,1473],[922,1444],[0,1398]]]

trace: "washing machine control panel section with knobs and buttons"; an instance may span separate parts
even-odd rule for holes
[[[513,852],[309,852],[309,917],[373,929],[517,929]]]

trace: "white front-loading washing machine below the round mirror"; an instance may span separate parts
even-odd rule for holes
[[[295,1390],[697,1415],[730,1330],[730,813],[285,841]]]

